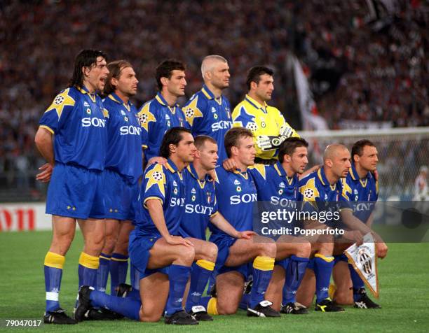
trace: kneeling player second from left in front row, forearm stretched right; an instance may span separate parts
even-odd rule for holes
[[[185,214],[180,224],[179,233],[193,243],[198,253],[210,254],[208,260],[197,260],[192,265],[191,285],[186,299],[186,311],[196,320],[212,320],[204,306],[200,305],[201,295],[214,269],[217,257],[217,246],[205,241],[205,231],[209,222],[235,239],[250,239],[254,232],[238,232],[227,222],[217,210],[217,199],[214,192],[214,182],[208,173],[216,167],[217,143],[205,135],[195,138],[196,154],[193,163],[184,171],[186,205]]]

